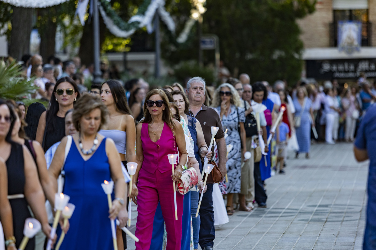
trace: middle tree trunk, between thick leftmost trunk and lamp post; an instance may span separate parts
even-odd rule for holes
[[[51,8],[41,9],[39,10],[39,14],[41,16],[48,16],[50,9]],[[42,25],[39,30],[39,34],[41,36],[41,46],[39,54],[42,56],[45,63],[47,63],[47,58],[50,55],[55,54],[55,36],[56,28],[58,27],[58,25],[56,24],[56,21],[53,22],[53,20],[51,19],[52,18],[49,18],[49,20],[45,22],[45,24]]]

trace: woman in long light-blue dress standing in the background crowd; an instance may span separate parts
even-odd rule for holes
[[[295,117],[300,117],[300,126],[296,127],[296,138],[298,140],[299,151],[296,152],[296,158],[299,153],[306,153],[306,158],[309,158],[309,150],[311,149],[311,126],[313,111],[311,100],[307,97],[308,93],[305,87],[299,87],[296,90],[296,98],[294,99]]]

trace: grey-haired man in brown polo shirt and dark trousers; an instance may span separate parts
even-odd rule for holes
[[[186,115],[195,117],[200,121],[202,131],[204,133],[205,142],[209,146],[211,140],[211,127],[219,127],[215,142],[218,145],[219,163],[218,168],[224,177],[226,170],[226,141],[218,113],[205,105],[203,105],[203,97],[205,96],[205,80],[201,77],[194,77],[187,82],[188,99],[190,102],[190,110]],[[214,149],[212,149],[214,152]],[[202,171],[202,168],[200,169]],[[214,246],[215,230],[214,230],[214,211],[213,211],[213,184],[207,184],[208,190],[204,193],[204,197],[200,207],[200,235],[199,244],[203,250],[212,250]]]

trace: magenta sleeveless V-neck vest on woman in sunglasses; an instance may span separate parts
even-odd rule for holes
[[[172,130],[167,123],[164,123],[161,138],[157,142],[153,142],[149,136],[148,126],[149,123],[143,123],[141,127],[141,141],[144,151],[144,161],[141,168],[150,174],[154,174],[157,169],[161,173],[171,171],[172,174],[171,164],[167,157],[168,154],[177,154]],[[159,149],[157,149],[157,144]]]

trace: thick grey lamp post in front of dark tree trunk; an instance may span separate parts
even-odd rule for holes
[[[99,12],[98,0],[93,1],[93,38],[94,38],[94,84],[102,83],[102,72],[100,71],[100,57],[99,57]]]

